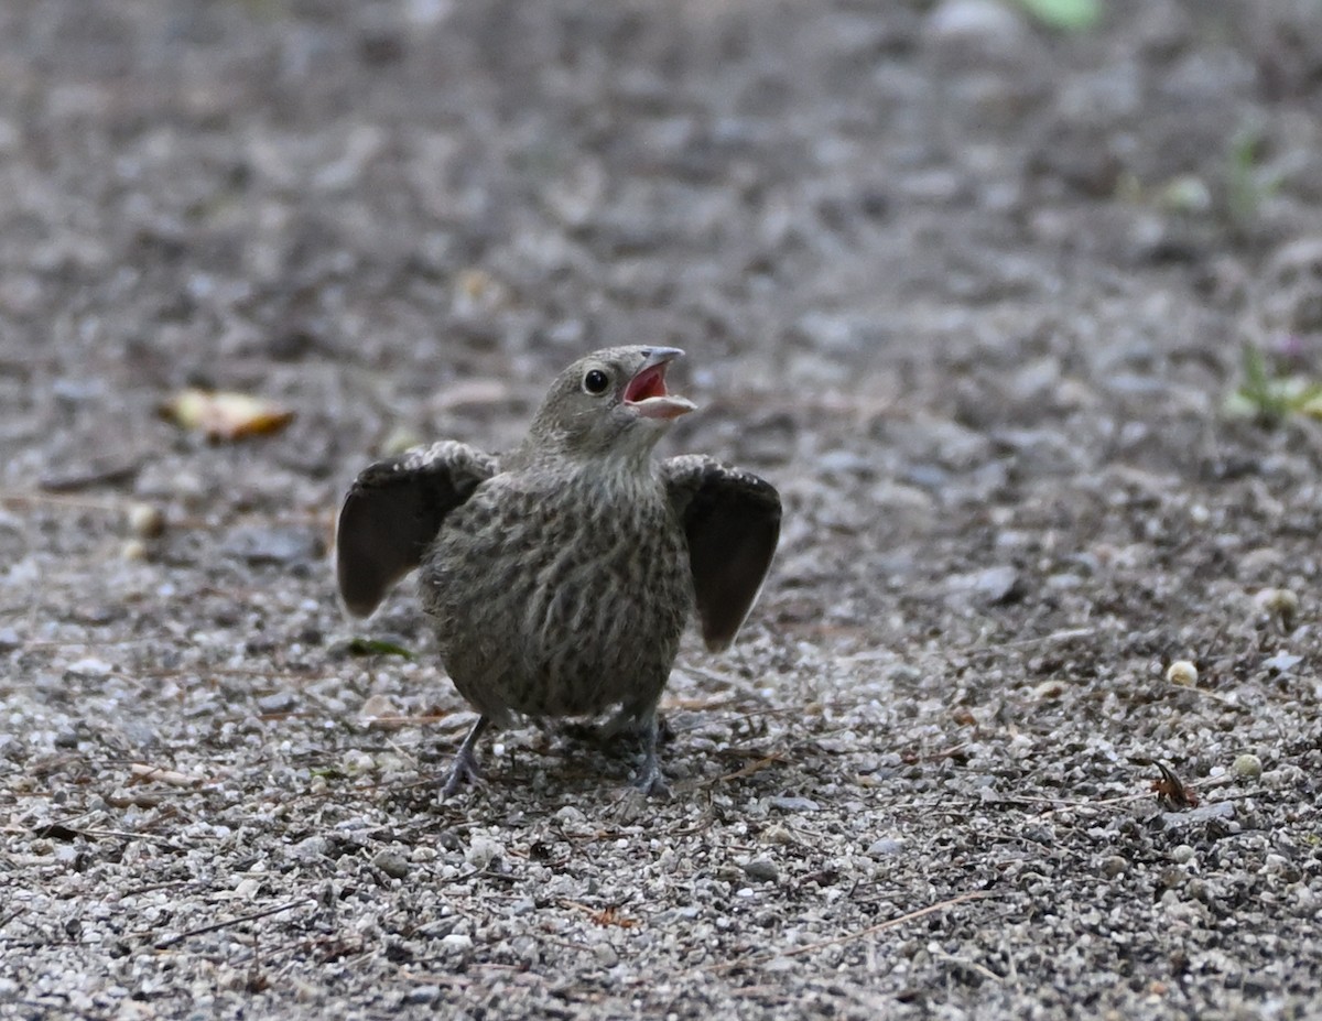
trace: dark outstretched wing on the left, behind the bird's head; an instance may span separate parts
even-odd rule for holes
[[[422,562],[446,514],[498,471],[489,454],[446,440],[365,468],[336,529],[340,596],[368,616],[390,586]]]

